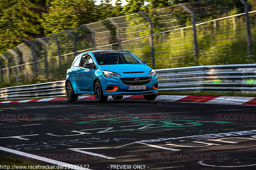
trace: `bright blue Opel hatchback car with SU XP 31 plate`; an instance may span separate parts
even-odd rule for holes
[[[155,100],[158,82],[155,70],[129,51],[88,51],[75,57],[67,70],[66,97],[76,102],[78,95],[94,94],[97,102],[111,95],[121,100],[124,95],[143,94]]]

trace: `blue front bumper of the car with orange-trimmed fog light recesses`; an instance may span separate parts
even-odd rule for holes
[[[120,80],[120,78],[123,77],[104,77],[100,80],[103,88],[103,95],[141,95],[158,93],[158,89],[153,88],[153,85],[158,83],[157,76],[154,75],[148,77],[151,77],[151,81],[148,84],[146,84],[146,89],[142,90],[128,90],[129,85],[124,85],[124,83]],[[116,91],[106,91],[109,85],[117,86],[118,89]]]

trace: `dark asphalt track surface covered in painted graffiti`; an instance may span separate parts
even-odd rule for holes
[[[1,103],[0,153],[93,170],[254,170],[255,111],[256,106],[142,100]]]

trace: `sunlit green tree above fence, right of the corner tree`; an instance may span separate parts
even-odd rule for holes
[[[49,35],[98,20],[94,0],[52,0],[42,14],[44,34]]]

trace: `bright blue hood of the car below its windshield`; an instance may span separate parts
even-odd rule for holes
[[[100,70],[108,70],[112,72],[135,72],[135,71],[150,71],[151,68],[145,64],[111,64],[99,65]]]

